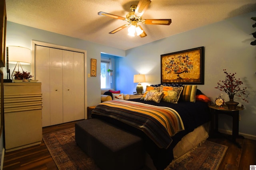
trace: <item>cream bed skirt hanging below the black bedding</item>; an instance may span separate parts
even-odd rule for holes
[[[181,141],[173,149],[174,160],[165,168],[165,170],[171,170],[175,163],[182,161],[187,157],[192,150],[194,150],[198,145],[204,143],[204,141],[209,137],[210,122],[204,123],[203,125],[194,129],[194,131],[185,135]],[[150,155],[146,153],[146,166],[151,170],[156,170]]]

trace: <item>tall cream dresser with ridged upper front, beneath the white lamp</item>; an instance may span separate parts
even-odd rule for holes
[[[4,83],[4,135],[6,152],[41,143],[41,83]]]

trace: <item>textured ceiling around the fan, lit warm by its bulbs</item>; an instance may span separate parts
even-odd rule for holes
[[[131,49],[203,25],[256,11],[255,0],[151,0],[143,19],[172,19],[170,25],[144,25],[148,36],[130,37],[127,28],[110,31],[126,21],[98,16],[106,12],[126,17],[139,0],[6,0],[7,20],[94,43]]]

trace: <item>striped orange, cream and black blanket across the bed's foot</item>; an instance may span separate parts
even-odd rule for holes
[[[96,106],[92,114],[111,117],[140,129],[159,148],[164,149],[172,143],[172,136],[184,130],[180,115],[169,107],[128,100],[111,100]]]

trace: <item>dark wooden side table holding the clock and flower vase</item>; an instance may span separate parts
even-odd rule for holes
[[[210,136],[215,135],[216,133],[220,133],[218,131],[218,114],[226,114],[232,116],[233,123],[232,123],[232,139],[231,141],[241,148],[240,144],[236,142],[237,137],[241,137],[244,139],[242,135],[238,135],[239,131],[239,111],[243,110],[244,107],[237,106],[235,110],[228,109],[228,106],[224,105],[222,107],[216,107],[215,104],[209,106],[211,109],[211,129],[210,129]],[[215,127],[214,127],[215,123]]]

